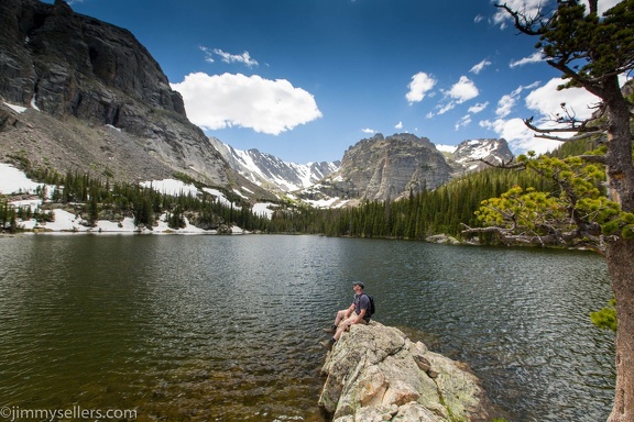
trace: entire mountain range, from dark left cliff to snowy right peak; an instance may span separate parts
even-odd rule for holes
[[[238,151],[189,122],[181,95],[129,31],[64,1],[0,4],[0,160],[123,181],[181,177],[255,200],[340,206],[434,189],[489,162],[504,140],[451,153],[413,134],[376,134],[340,162],[286,163]]]

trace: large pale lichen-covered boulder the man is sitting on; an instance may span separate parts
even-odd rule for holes
[[[374,321],[345,333],[321,373],[319,407],[335,422],[489,420],[485,395],[463,365]]]

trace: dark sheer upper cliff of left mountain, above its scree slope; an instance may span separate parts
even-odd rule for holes
[[[118,126],[130,100],[182,116],[181,96],[127,30],[75,14],[64,1],[3,0],[0,89],[9,101]],[[127,101],[128,100],[128,101]]]

